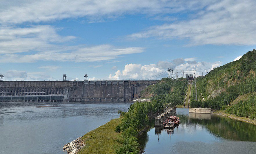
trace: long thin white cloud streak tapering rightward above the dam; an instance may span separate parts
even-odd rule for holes
[[[65,47],[63,47],[65,48]],[[112,45],[97,45],[92,47],[68,47],[71,51],[45,51],[35,54],[3,54],[0,63],[33,63],[37,60],[47,61],[71,61],[71,62],[95,62],[112,60],[121,55],[144,52],[141,47],[117,48]]]

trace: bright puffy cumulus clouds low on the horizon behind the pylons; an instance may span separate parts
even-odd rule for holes
[[[209,62],[196,62],[196,63],[181,63],[179,65],[175,65],[174,73],[178,71],[179,77],[181,74],[181,70],[184,70],[184,74],[193,74],[201,75],[202,71],[205,75],[207,71],[212,70],[214,67],[219,67],[221,65],[220,61],[215,63]],[[150,65],[141,65],[141,64],[127,64],[124,67],[124,70],[117,70],[114,75],[109,74],[110,80],[155,80],[161,79],[168,76],[167,69],[162,69],[161,65],[150,64]],[[176,75],[175,75],[176,78]]]

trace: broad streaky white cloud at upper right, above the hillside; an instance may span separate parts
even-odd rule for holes
[[[255,0],[209,3],[186,21],[153,26],[129,37],[188,39],[189,45],[255,45],[255,5]]]

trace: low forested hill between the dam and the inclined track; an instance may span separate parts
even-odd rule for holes
[[[179,78],[176,82],[170,78],[163,78],[155,85],[150,85],[140,93],[141,98],[161,99],[162,103],[174,102],[173,105],[184,103],[188,80]]]

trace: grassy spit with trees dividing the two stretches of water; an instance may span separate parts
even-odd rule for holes
[[[85,146],[79,153],[141,153],[137,137],[146,131],[149,119],[157,116],[162,105],[158,100],[135,102],[127,113],[118,111],[121,118],[113,119],[82,137]]]

